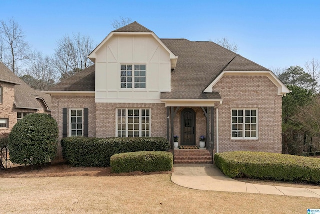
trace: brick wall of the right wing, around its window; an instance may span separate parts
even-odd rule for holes
[[[281,153],[282,98],[266,76],[224,76],[213,91],[218,91],[223,99],[218,107],[219,152]],[[258,109],[258,140],[231,140],[232,108]]]

